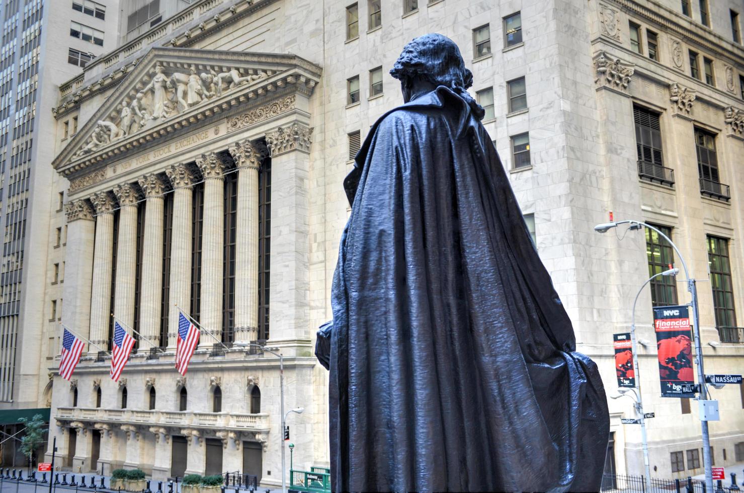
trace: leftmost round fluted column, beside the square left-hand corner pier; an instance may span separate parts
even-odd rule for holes
[[[111,272],[114,260],[114,209],[116,201],[109,192],[91,197],[95,207],[95,251],[93,257],[93,295],[91,298],[91,342],[106,349],[111,316]],[[90,347],[89,352],[99,349]]]

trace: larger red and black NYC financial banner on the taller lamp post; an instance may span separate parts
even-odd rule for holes
[[[692,332],[689,307],[658,306],[653,309],[658,347],[658,376],[662,397],[694,397]]]

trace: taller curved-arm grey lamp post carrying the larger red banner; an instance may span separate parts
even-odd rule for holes
[[[697,286],[695,280],[690,278],[690,271],[687,270],[687,263],[684,262],[684,257],[677,248],[677,245],[670,239],[669,236],[665,235],[658,228],[654,228],[652,225],[648,225],[642,221],[635,221],[635,219],[625,219],[623,221],[605,222],[600,225],[594,226],[594,231],[597,233],[606,233],[612,228],[617,228],[619,225],[631,225],[631,229],[640,229],[641,227],[649,228],[652,231],[656,231],[659,236],[666,239],[667,242],[676,252],[679,257],[679,261],[682,262],[682,269],[684,270],[684,279],[687,280],[687,291],[690,291],[692,301],[690,303],[690,309],[693,312],[693,326],[695,327],[694,338],[695,338],[695,364],[698,369],[698,381],[700,385],[700,396],[699,400],[708,399],[708,389],[705,387],[705,370],[702,366],[702,343],[700,341],[700,324],[698,314],[698,299],[697,299]],[[648,281],[647,281],[648,282]],[[637,299],[638,297],[636,297]],[[634,303],[635,305],[635,303]],[[705,419],[700,419],[700,428],[702,430],[702,460],[705,465],[705,489],[708,492],[713,491],[713,470],[711,464],[711,438],[708,434],[708,422]]]

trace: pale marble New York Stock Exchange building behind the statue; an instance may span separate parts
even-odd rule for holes
[[[371,124],[400,103],[394,59],[431,31],[461,46],[579,350],[608,393],[612,334],[628,331],[650,269],[679,261],[643,231],[595,233],[610,210],[668,228],[701,281],[706,372],[740,373],[740,10],[734,0],[196,0],[123,36],[62,83],[50,109],[51,187],[65,196],[50,229],[66,227],[67,239],[37,254],[43,299],[63,298],[62,323],[94,344],[68,382],[56,320],[40,338],[49,380],[29,391],[51,405],[62,467],[141,467],[154,479],[243,471],[277,485],[279,361],[240,345],[251,341],[280,350],[285,410],[304,407],[288,418],[295,468],[327,465],[327,373],[312,346],[330,318],[341,181]],[[79,132],[62,137],[73,118]],[[60,259],[64,283],[52,285]],[[636,314],[658,477],[702,472],[696,405],[658,396],[650,342],[652,304],[687,300],[684,284],[655,283]],[[209,332],[185,377],[173,369],[179,309]],[[118,382],[112,314],[138,335]],[[715,463],[744,461],[744,390],[712,393]],[[607,468],[642,474],[624,401],[609,402]]]

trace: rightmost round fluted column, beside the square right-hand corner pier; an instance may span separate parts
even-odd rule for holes
[[[235,340],[254,341],[258,337],[258,168],[264,149],[246,139],[228,151],[237,167]]]

